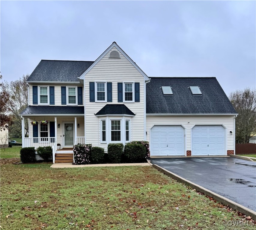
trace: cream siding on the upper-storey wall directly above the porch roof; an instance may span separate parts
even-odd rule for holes
[[[33,105],[33,89],[32,89],[33,85],[34,86],[39,86],[40,84],[35,84],[35,83],[29,84],[29,99],[28,99],[29,101],[28,101],[28,105]],[[41,85],[43,86],[45,84],[41,84]],[[83,87],[82,84],[79,84],[79,85],[68,84],[68,85],[70,87],[77,87],[77,86]],[[53,106],[61,105],[61,86],[66,86],[67,87],[67,84],[61,84],[61,83],[60,84],[49,84],[49,86],[54,86],[54,101],[55,101],[55,105],[53,105]],[[39,89],[38,89],[38,94],[39,94]],[[77,98],[77,93],[76,93],[76,98]],[[38,103],[39,103],[39,100],[38,100]],[[67,101],[67,103],[68,103],[68,101]],[[85,103],[85,99],[84,99],[84,91],[83,91],[83,105],[84,105],[84,103]],[[66,106],[66,105],[62,105],[62,106]]]

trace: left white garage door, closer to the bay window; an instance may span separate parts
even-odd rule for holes
[[[184,156],[184,128],[180,125],[155,125],[150,132],[151,156]]]

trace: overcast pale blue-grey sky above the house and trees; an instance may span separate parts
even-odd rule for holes
[[[96,60],[113,41],[149,76],[256,85],[255,1],[1,1],[1,74]]]

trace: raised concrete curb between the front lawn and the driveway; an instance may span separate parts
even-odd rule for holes
[[[196,189],[197,191],[199,191],[201,193],[204,193],[204,195],[212,197],[213,199],[221,202],[224,205],[229,205],[229,207],[233,208],[234,210],[237,210],[237,211],[245,214],[246,216],[251,216],[253,220],[256,220],[256,212],[255,211],[253,211],[249,208],[246,208],[243,205],[240,205],[224,196],[214,193],[198,184],[195,184],[195,183],[193,183],[175,173],[172,173],[172,172],[158,166],[157,164],[153,164],[153,167],[156,168],[157,170],[159,170],[160,172],[164,173],[165,175],[167,175],[171,178],[174,178],[175,180],[182,182],[182,183],[192,187],[193,189]]]

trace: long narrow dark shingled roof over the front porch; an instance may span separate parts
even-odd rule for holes
[[[29,105],[20,115],[34,114],[85,114],[84,106]]]

